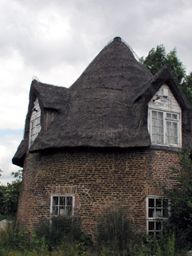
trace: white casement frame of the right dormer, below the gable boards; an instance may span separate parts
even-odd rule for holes
[[[153,111],[163,113],[163,142],[153,141],[153,137],[152,137],[153,136],[152,135],[152,112]],[[177,115],[178,120],[167,118],[167,114]],[[171,112],[171,111],[161,110],[161,109],[157,109],[157,108],[149,108],[148,116],[149,116],[149,118],[148,118],[148,129],[149,129],[149,132],[150,132],[150,135],[151,135],[151,144],[156,144],[156,145],[160,145],[160,146],[171,146],[171,147],[177,147],[177,148],[182,147],[182,121],[181,121],[182,120],[182,115],[181,115],[181,112]],[[170,121],[171,124],[172,123],[177,123],[178,124],[178,144],[168,142],[167,121]]]

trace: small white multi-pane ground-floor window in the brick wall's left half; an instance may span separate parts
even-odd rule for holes
[[[51,195],[51,215],[69,217],[74,214],[74,195]]]

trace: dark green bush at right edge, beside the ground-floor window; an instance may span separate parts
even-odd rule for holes
[[[171,202],[170,228],[177,245],[192,246],[192,161],[189,152],[180,156],[181,170],[173,169],[171,179],[176,185],[166,191]]]

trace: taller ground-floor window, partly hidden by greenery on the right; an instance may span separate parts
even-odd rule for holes
[[[147,196],[147,234],[159,235],[163,233],[163,225],[170,215],[169,199],[158,196]]]

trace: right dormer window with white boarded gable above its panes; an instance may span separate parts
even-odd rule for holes
[[[182,147],[182,111],[167,85],[148,104],[151,144]]]

